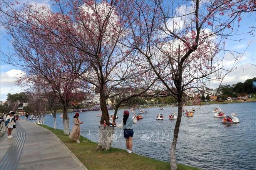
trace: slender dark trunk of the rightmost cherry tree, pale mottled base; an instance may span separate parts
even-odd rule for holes
[[[172,139],[172,145],[170,150],[170,156],[171,156],[171,170],[177,169],[177,160],[176,160],[176,145],[177,145],[177,139],[179,135],[179,126],[181,124],[181,117],[182,117],[182,95],[178,97],[178,117],[176,120],[174,133],[173,133],[173,139]]]

